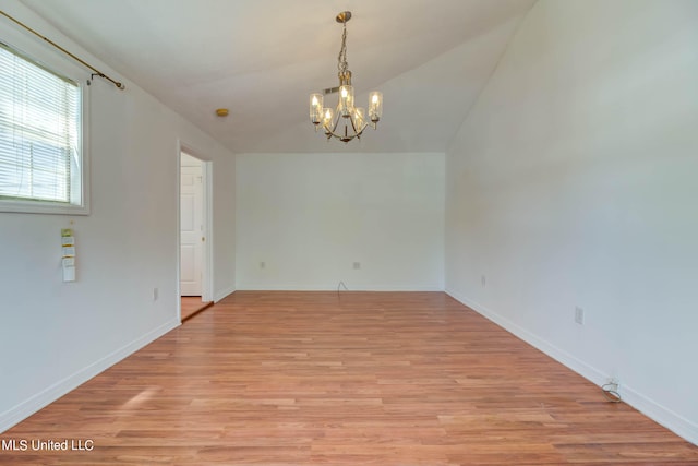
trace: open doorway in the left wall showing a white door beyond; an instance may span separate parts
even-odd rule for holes
[[[207,292],[207,163],[180,152],[180,318],[190,319],[210,306]]]

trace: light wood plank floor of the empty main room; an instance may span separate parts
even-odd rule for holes
[[[698,465],[441,292],[236,292],[0,435],[12,465]]]

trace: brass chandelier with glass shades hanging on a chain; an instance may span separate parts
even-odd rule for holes
[[[364,108],[353,106],[353,86],[351,85],[351,71],[347,64],[347,22],[351,20],[350,11],[342,11],[337,15],[337,23],[341,23],[341,48],[337,57],[339,70],[339,87],[324,91],[324,94],[339,93],[339,101],[336,109],[323,106],[323,94],[310,96],[310,121],[315,126],[315,131],[323,129],[327,140],[336,138],[344,143],[352,139],[361,139],[363,130],[369,124],[375,130],[383,116],[383,94],[374,91],[369,95],[369,115]]]

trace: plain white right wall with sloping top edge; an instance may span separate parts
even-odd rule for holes
[[[447,291],[694,443],[696,24],[691,0],[539,1],[446,160]]]

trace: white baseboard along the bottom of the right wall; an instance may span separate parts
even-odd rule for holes
[[[612,374],[604,373],[603,371],[589,366],[588,363],[574,357],[569,353],[556,347],[555,345],[544,340],[543,338],[540,338],[539,336],[532,334],[520,325],[512,322],[506,318],[503,318],[502,315],[478,303],[477,301],[468,299],[466,296],[450,289],[446,289],[446,294],[457,301],[460,301],[465,306],[471,308],[473,311],[478,312],[490,321],[494,322],[495,324],[500,325],[507,332],[516,335],[518,338],[522,339],[529,345],[545,353],[551,358],[577,372],[579,375],[589,380],[593,384],[601,386],[612,378]],[[645,396],[643,394],[639,393],[628,385],[621,386],[621,395],[623,396],[623,401],[625,403],[633,406],[645,416],[664,426],[666,429],[684,438],[688,442],[698,445],[698,426],[696,426],[694,422],[690,422],[688,419],[677,415],[676,413],[667,409],[659,403],[655,403],[651,398]]]

